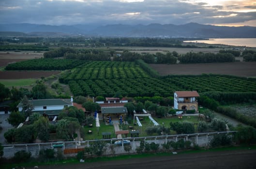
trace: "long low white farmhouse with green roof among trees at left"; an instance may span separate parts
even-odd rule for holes
[[[61,110],[68,106],[73,106],[73,97],[71,99],[37,99],[29,100],[34,105],[32,112],[38,112],[47,115],[58,115]],[[17,105],[19,112],[22,111],[22,103]]]

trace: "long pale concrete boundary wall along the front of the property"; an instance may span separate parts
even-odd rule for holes
[[[88,140],[88,141],[63,141],[62,148],[55,148],[55,151],[62,150],[68,151],[67,149],[79,149],[81,150],[84,147],[89,147],[91,143],[97,141],[105,141],[106,146],[109,147],[113,145],[115,141],[118,140],[130,140],[132,150],[130,153],[136,153],[136,147],[139,146],[140,141],[144,140],[147,142],[155,142],[156,144],[160,144],[160,149],[162,148],[162,144],[167,141],[178,141],[183,139],[184,141],[191,141],[197,144],[198,146],[207,146],[209,142],[213,138],[213,135],[217,134],[234,134],[237,131],[224,131],[224,132],[211,132],[211,133],[194,133],[194,134],[180,134],[180,135],[165,135],[165,136],[149,136],[149,137],[136,137],[136,138],[123,138],[123,139],[105,139],[105,140]],[[14,156],[15,152],[20,150],[25,150],[31,152],[33,157],[37,157],[39,155],[39,151],[42,149],[53,149],[53,145],[58,144],[56,142],[47,142],[47,143],[31,143],[31,144],[7,144],[3,145],[3,151],[5,158],[11,158]],[[76,151],[75,151],[76,153]],[[123,145],[115,146],[115,154],[125,154]],[[110,148],[106,149],[104,155],[111,155]],[[74,154],[76,155],[76,154]]]

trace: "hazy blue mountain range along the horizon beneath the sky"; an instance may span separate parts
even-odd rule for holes
[[[24,32],[30,36],[51,36],[54,34],[55,36],[88,35],[105,37],[256,38],[256,27],[220,27],[197,23],[189,23],[184,25],[117,24],[106,26],[0,24],[0,31]]]

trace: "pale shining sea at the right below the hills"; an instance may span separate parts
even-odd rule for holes
[[[209,39],[209,40],[184,41],[184,42],[226,44],[226,45],[232,45],[232,46],[256,47],[256,38],[225,38],[225,39]]]

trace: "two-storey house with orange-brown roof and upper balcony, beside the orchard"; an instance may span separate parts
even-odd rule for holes
[[[175,91],[174,109],[182,111],[196,110],[198,112],[197,97],[199,97],[197,91]]]

